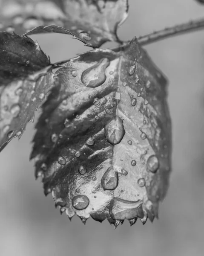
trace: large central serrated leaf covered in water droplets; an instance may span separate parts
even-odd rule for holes
[[[31,158],[44,193],[83,223],[158,215],[170,174],[166,79],[134,38],[70,59],[43,105]]]

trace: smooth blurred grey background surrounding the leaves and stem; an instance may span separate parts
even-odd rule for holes
[[[198,17],[194,0],[129,0],[129,17],[119,29],[123,40]],[[52,62],[90,48],[69,35],[35,35]],[[106,44],[110,47],[113,44]],[[0,154],[1,256],[189,256],[204,255],[204,30],[145,47],[169,78],[173,126],[172,176],[159,220],[129,222],[116,230],[108,221],[72,222],[43,195],[29,162],[35,122]]]

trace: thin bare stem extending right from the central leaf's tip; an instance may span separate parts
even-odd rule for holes
[[[153,32],[148,35],[144,35],[138,38],[138,42],[141,45],[147,45],[160,41],[175,35],[182,35],[190,31],[196,31],[198,29],[204,29],[204,19],[193,20],[181,25],[173,26],[171,28],[162,29],[160,31]]]

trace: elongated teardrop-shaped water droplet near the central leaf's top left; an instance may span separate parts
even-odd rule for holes
[[[110,64],[108,58],[102,58],[97,64],[83,71],[81,81],[87,87],[98,87],[106,81],[105,70]]]

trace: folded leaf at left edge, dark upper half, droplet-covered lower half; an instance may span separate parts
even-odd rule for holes
[[[0,150],[22,135],[53,84],[54,65],[28,36],[0,32]]]

